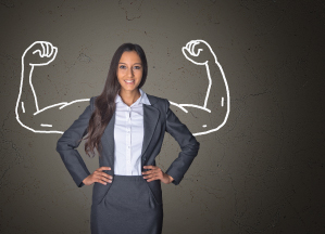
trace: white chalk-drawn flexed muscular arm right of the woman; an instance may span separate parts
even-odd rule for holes
[[[183,110],[177,115],[182,121],[189,126],[191,132],[195,132],[193,135],[217,131],[226,123],[230,113],[229,88],[224,70],[210,44],[204,40],[189,41],[182,48],[182,52],[191,63],[205,66],[209,84],[202,105],[174,102],[171,104],[175,106],[176,112],[179,108]],[[213,75],[211,76],[211,74]]]

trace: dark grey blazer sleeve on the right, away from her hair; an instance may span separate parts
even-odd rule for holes
[[[186,125],[182,123],[177,116],[170,109],[170,102],[166,101],[166,129],[179,144],[182,152],[172,162],[165,173],[170,174],[174,180],[172,183],[178,185],[184,174],[188,170],[195,157],[198,155],[200,143],[196,140]]]

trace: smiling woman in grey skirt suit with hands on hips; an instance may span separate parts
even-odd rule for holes
[[[77,186],[91,185],[92,234],[159,234],[163,224],[161,182],[179,184],[199,142],[170,109],[170,102],[143,92],[147,58],[138,44],[124,43],[113,55],[103,91],[59,139],[57,151]],[[166,172],[155,166],[164,133],[182,152]],[[90,173],[75,150],[99,154]]]

